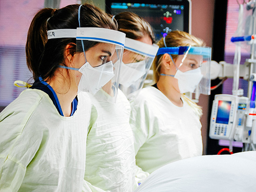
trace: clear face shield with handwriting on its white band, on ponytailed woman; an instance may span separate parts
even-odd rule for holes
[[[74,75],[77,93],[88,92],[98,100],[115,102],[125,33],[98,27],[56,29],[49,33],[58,38],[76,38],[71,66],[60,67],[70,69]]]

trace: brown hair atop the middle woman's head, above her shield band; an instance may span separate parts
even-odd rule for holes
[[[115,15],[115,20],[118,23],[118,31],[125,33],[126,37],[138,40],[148,35],[152,43],[155,43],[155,35],[152,27],[139,15],[132,12],[122,12]]]

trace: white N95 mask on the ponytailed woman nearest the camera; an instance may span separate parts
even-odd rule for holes
[[[112,61],[96,67],[86,62],[78,71],[82,76],[77,93],[89,92],[94,95],[115,76]]]

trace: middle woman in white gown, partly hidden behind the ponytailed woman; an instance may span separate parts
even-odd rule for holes
[[[148,22],[134,13],[119,13],[113,20],[117,21],[118,30],[128,37],[125,40],[120,73],[118,64],[114,64],[114,71],[120,74],[119,88],[126,86],[125,81],[129,81],[128,88],[136,85],[135,88],[139,90],[158,49],[158,46],[152,46],[154,34]],[[136,50],[130,45],[135,46]],[[139,64],[141,61],[144,64]],[[136,67],[137,64],[140,68]],[[126,65],[127,68],[124,68]],[[143,74],[136,71],[141,66],[144,67]],[[135,79],[131,80],[134,75]],[[124,92],[126,95],[121,90],[117,92],[115,103],[99,101],[97,96],[104,94],[102,90],[91,97],[98,118],[89,129],[87,137],[85,180],[111,192],[130,192],[148,175],[135,167],[133,132],[129,124],[130,104],[126,98],[126,95],[134,93],[134,89],[132,92]]]

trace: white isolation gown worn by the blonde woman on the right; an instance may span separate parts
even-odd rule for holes
[[[153,172],[168,163],[202,155],[199,116],[189,104],[175,106],[153,86],[131,102],[136,165]]]

